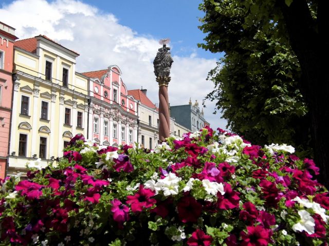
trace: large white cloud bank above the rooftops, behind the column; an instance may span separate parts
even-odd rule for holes
[[[0,9],[1,21],[16,28],[20,39],[44,34],[61,45],[77,51],[77,71],[95,71],[118,65],[128,89],[148,89],[148,96],[156,103],[158,87],[153,73],[153,59],[158,40],[148,34],[140,35],[118,23],[115,13],[104,13],[80,1],[16,0]],[[179,40],[177,41],[179,42]],[[213,89],[206,80],[215,67],[215,59],[197,57],[191,50],[189,57],[174,56],[169,85],[171,105],[188,104],[190,97],[199,106]],[[213,115],[214,104],[209,103],[205,118],[213,128],[226,123]]]

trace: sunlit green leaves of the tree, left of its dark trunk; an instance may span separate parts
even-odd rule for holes
[[[297,86],[301,68],[276,1],[204,0],[199,9],[207,36],[198,46],[225,52],[209,72],[215,87],[206,99],[216,102],[228,127],[255,144],[310,150],[308,109]]]

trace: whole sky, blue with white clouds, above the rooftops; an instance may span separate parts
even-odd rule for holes
[[[143,87],[158,102],[153,59],[160,38],[169,37],[174,63],[171,69],[171,105],[186,105],[191,97],[202,105],[213,90],[208,72],[222,54],[197,48],[205,34],[198,29],[200,0],[4,0],[0,21],[16,28],[15,35],[47,35],[80,53],[77,71],[87,72],[117,65],[129,90]],[[205,118],[211,127],[225,128],[226,120],[212,114],[206,101]]]

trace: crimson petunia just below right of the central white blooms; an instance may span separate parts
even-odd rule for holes
[[[239,207],[239,192],[232,191],[231,185],[225,183],[224,186],[225,194],[222,195],[221,192],[217,193],[217,207],[219,209],[234,209]]]

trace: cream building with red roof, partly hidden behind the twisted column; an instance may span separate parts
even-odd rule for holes
[[[154,149],[159,140],[159,111],[147,96],[147,90],[129,90],[128,94],[138,100],[138,142],[143,148]],[[170,134],[182,136],[190,130],[170,118]]]

